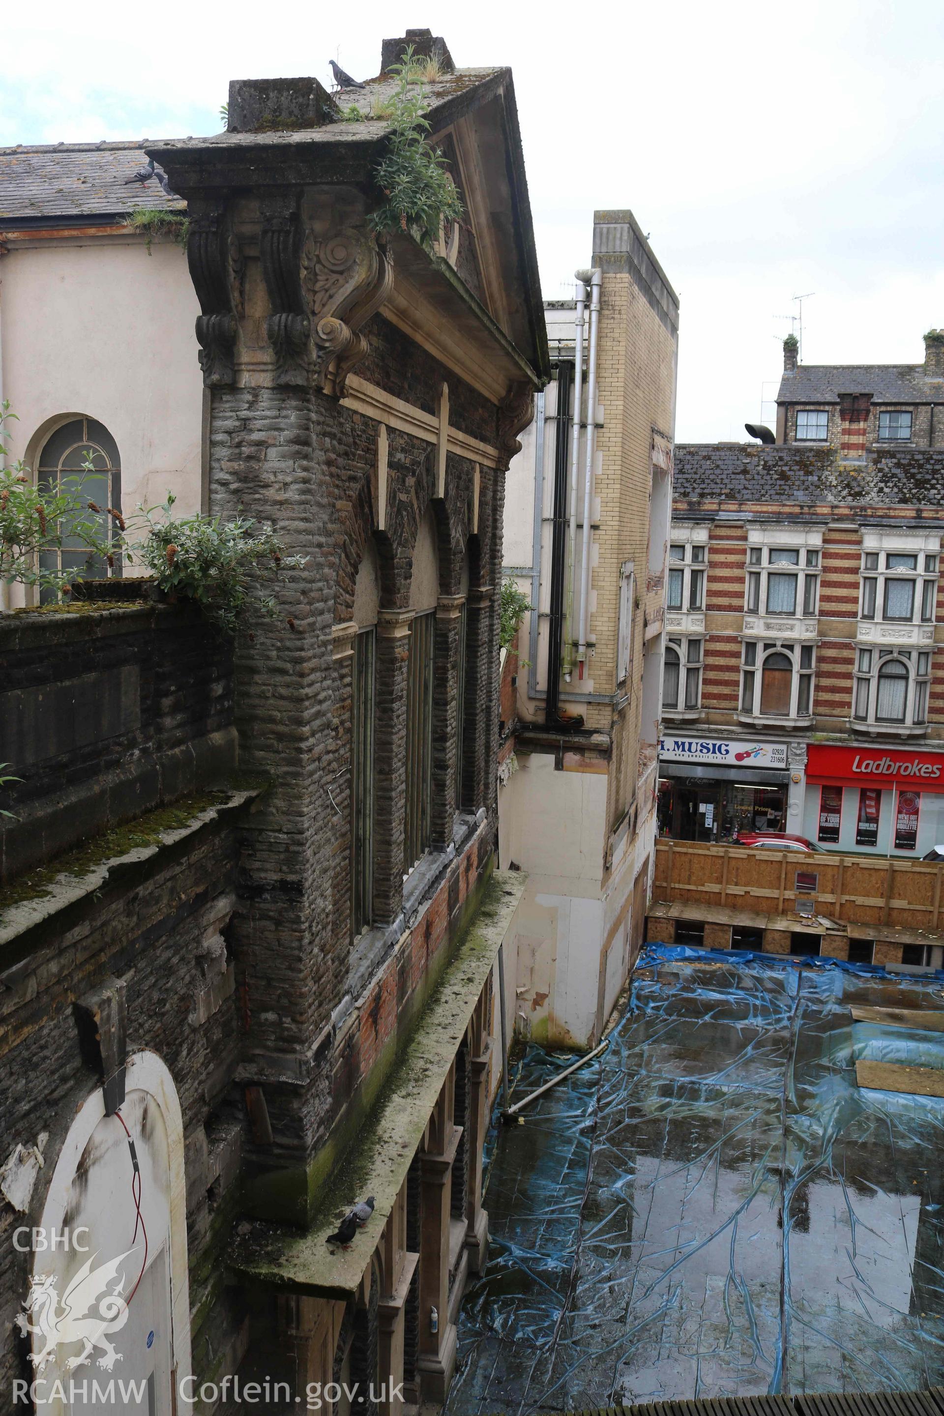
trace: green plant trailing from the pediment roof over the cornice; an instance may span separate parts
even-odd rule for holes
[[[385,200],[371,214],[369,222],[378,234],[409,231],[430,248],[439,241],[444,221],[461,218],[463,204],[446,159],[427,142],[427,102],[420,85],[425,61],[418,62],[409,45],[391,72],[398,76],[399,86],[384,103],[391,132],[386,152],[374,173]]]

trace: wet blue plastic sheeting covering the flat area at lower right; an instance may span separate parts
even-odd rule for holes
[[[944,1382],[944,977],[650,946],[607,1051],[490,1134],[446,1412]],[[573,1058],[528,1049],[515,1099]]]

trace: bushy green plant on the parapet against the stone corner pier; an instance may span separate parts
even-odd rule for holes
[[[283,555],[282,541],[265,523],[241,515],[232,521],[174,517],[174,501],[168,493],[163,507],[140,508],[147,535],[133,548],[161,590],[171,599],[194,600],[229,636],[251,606],[275,619],[276,602],[262,588],[277,581],[283,571],[299,569],[309,558]]]

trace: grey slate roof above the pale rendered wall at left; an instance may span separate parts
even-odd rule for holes
[[[139,207],[184,211],[156,178],[125,185],[146,164],[144,143],[55,143],[0,147],[0,229],[27,224],[120,219]]]

